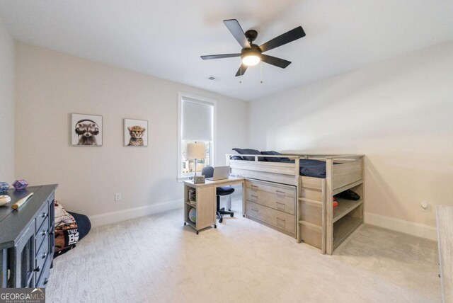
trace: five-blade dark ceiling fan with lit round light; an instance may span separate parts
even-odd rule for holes
[[[291,64],[291,62],[285,59],[264,55],[263,52],[273,50],[275,47],[285,45],[305,36],[305,32],[302,29],[302,26],[299,26],[278,37],[273,38],[272,40],[269,40],[268,42],[265,42],[263,45],[258,46],[252,43],[253,40],[255,40],[258,36],[258,32],[256,30],[247,30],[246,33],[243,33],[241,25],[239,25],[239,22],[236,19],[224,20],[224,23],[226,25],[226,28],[228,28],[231,32],[231,35],[233,35],[237,42],[239,42],[239,45],[241,45],[241,52],[236,54],[201,56],[201,59],[207,60],[241,57],[241,67],[239,67],[236,76],[242,76],[246,73],[247,67],[256,65],[260,63],[260,61],[285,69],[289,64]]]

